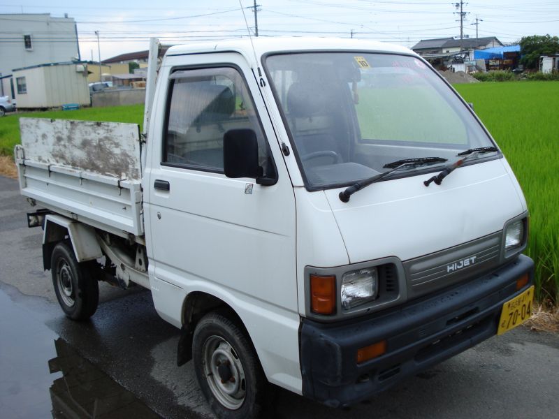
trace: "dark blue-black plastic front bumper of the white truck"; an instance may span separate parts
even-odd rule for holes
[[[303,395],[345,406],[386,390],[497,333],[502,304],[532,284],[527,256],[466,284],[407,302],[374,316],[340,323],[303,318]],[[516,291],[528,273],[529,284]],[[357,364],[359,348],[386,339],[386,353]]]

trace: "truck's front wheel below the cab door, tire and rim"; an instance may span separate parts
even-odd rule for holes
[[[196,325],[192,358],[198,385],[220,419],[258,418],[268,381],[242,328],[222,313]]]

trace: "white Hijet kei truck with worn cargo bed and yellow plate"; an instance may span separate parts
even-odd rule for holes
[[[219,418],[269,383],[348,406],[530,316],[528,209],[472,106],[355,39],[150,47],[137,124],[21,119],[21,193],[69,318],[150,289]],[[156,77],[157,75],[157,77]]]

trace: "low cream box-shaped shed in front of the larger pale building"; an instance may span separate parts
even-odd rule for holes
[[[56,108],[66,103],[89,105],[87,64],[42,64],[13,71],[17,108]]]

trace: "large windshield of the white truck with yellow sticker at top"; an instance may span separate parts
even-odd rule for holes
[[[277,54],[266,69],[310,189],[345,186],[402,159],[452,161],[465,149],[493,146],[456,94],[415,57]]]

